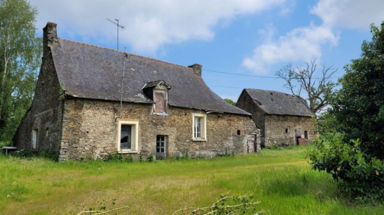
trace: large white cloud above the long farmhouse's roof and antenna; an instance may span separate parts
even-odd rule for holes
[[[237,15],[258,13],[281,5],[286,0],[164,0],[164,1],[45,1],[31,0],[37,6],[37,27],[57,23],[58,34],[83,38],[116,39],[116,26],[105,18],[119,19],[120,44],[134,51],[155,53],[165,44],[191,39],[210,40],[212,27]]]

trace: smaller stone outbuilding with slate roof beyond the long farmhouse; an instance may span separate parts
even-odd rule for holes
[[[252,114],[261,128],[262,146],[305,144],[315,136],[308,105],[296,96],[266,90],[244,89],[236,106]]]

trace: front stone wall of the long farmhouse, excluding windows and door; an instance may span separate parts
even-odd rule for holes
[[[247,152],[247,141],[260,135],[249,116],[207,114],[207,141],[193,141],[192,113],[203,111],[169,107],[168,115],[152,114],[152,104],[66,99],[63,114],[60,160],[106,159],[117,151],[118,120],[138,121],[139,152],[156,152],[156,136],[168,136],[167,156],[188,152],[192,157],[212,157]],[[238,135],[237,130],[241,131]],[[260,145],[260,138],[257,142]],[[137,153],[134,154],[137,156]]]

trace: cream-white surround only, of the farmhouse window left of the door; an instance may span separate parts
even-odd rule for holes
[[[120,149],[121,125],[131,125],[131,149]],[[119,120],[117,129],[117,151],[119,153],[138,153],[139,148],[139,121]]]

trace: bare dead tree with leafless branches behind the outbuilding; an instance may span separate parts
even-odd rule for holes
[[[285,87],[306,102],[313,113],[318,113],[328,105],[329,95],[338,84],[332,81],[332,75],[337,72],[333,66],[321,64],[321,73],[316,69],[316,59],[311,59],[303,67],[293,67],[289,63],[275,74],[286,81]]]

